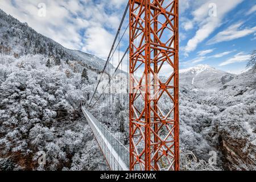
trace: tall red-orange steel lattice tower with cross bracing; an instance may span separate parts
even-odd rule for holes
[[[130,170],[179,170],[179,1],[130,3]]]

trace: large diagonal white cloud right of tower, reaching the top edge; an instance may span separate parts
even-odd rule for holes
[[[193,21],[199,24],[196,35],[190,39],[185,47],[185,53],[194,51],[198,44],[203,42],[213,33],[216,28],[221,26],[224,16],[233,10],[243,0],[208,0],[195,11],[193,11]],[[201,1],[200,1],[201,2]],[[215,3],[217,6],[217,16],[209,16],[209,4]]]

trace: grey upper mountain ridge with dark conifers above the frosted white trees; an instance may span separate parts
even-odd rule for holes
[[[2,9],[0,9],[0,37],[2,46],[10,48],[9,55],[20,57],[28,54],[42,54],[47,57],[60,57],[62,61],[82,61],[88,65],[89,69],[92,68],[98,72],[105,64],[105,60],[90,53],[65,48],[55,40],[36,32],[26,22],[22,23],[6,14]],[[110,67],[113,68],[112,64]]]

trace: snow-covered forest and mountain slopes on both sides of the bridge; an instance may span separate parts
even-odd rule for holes
[[[80,109],[105,61],[64,48],[2,10],[0,43],[0,170],[108,170]],[[241,75],[208,65],[181,71],[181,169],[253,169],[255,96],[254,69]],[[114,95],[90,110],[126,146],[127,100]],[[47,165],[38,164],[39,151]],[[214,166],[210,151],[217,154]]]

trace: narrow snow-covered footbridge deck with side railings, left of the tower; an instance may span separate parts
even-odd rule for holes
[[[112,171],[128,171],[129,170],[129,150],[120,143],[112,133],[106,129],[92,114],[82,106],[90,128],[105,156],[106,162]]]

